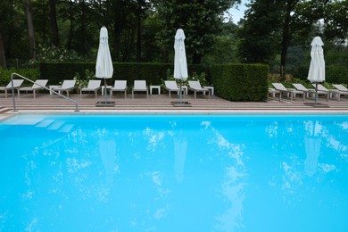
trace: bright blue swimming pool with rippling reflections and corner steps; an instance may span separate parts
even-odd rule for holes
[[[347,231],[346,115],[0,121],[2,231]]]

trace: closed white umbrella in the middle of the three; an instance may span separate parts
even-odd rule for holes
[[[185,51],[185,34],[178,29],[174,39],[174,79],[180,80],[180,103],[182,99],[182,82],[187,79],[187,62]]]

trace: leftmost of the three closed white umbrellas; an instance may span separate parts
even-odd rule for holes
[[[100,29],[99,48],[95,63],[95,77],[104,79],[105,103],[107,101],[106,79],[111,79],[113,74],[112,55],[109,49],[108,30]]]

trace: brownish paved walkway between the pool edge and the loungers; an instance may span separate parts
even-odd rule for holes
[[[267,102],[229,102],[221,99],[217,96],[211,96],[209,99],[207,95],[197,95],[195,99],[193,95],[184,95],[183,101],[189,102],[190,107],[176,106],[171,103],[178,102],[178,95],[173,95],[170,99],[168,95],[149,95],[146,99],[146,95],[137,94],[135,99],[128,95],[128,98],[124,99],[123,95],[110,96],[108,101],[114,101],[113,107],[96,107],[95,103],[98,101],[104,101],[104,96],[98,95],[95,99],[95,95],[83,95],[81,98],[79,95],[70,95],[79,105],[79,112],[111,112],[111,113],[136,113],[136,112],[148,112],[148,113],[286,113],[286,112],[335,112],[335,113],[348,113],[348,98],[343,97],[341,101],[336,99],[330,99],[328,102],[324,98],[319,99],[319,103],[327,104],[329,107],[312,107],[304,103],[313,103],[314,100],[309,98],[304,102],[301,97],[295,98],[293,102],[290,99],[282,99],[281,102],[278,98],[269,98]],[[16,109],[18,112],[74,112],[75,104],[67,101],[59,96],[39,94],[36,99],[33,99],[32,94],[22,94],[21,99],[15,97]],[[18,113],[13,112],[12,97],[4,98],[4,95],[0,95],[0,115],[5,117],[4,114]],[[0,117],[1,119],[1,117]]]

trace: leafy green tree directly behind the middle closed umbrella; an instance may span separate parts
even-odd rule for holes
[[[186,55],[193,63],[200,63],[203,55],[214,44],[215,35],[219,34],[223,13],[236,0],[156,0],[153,1],[164,28],[164,61],[169,60],[176,30],[184,29],[186,36]],[[188,60],[189,60],[188,59]]]

